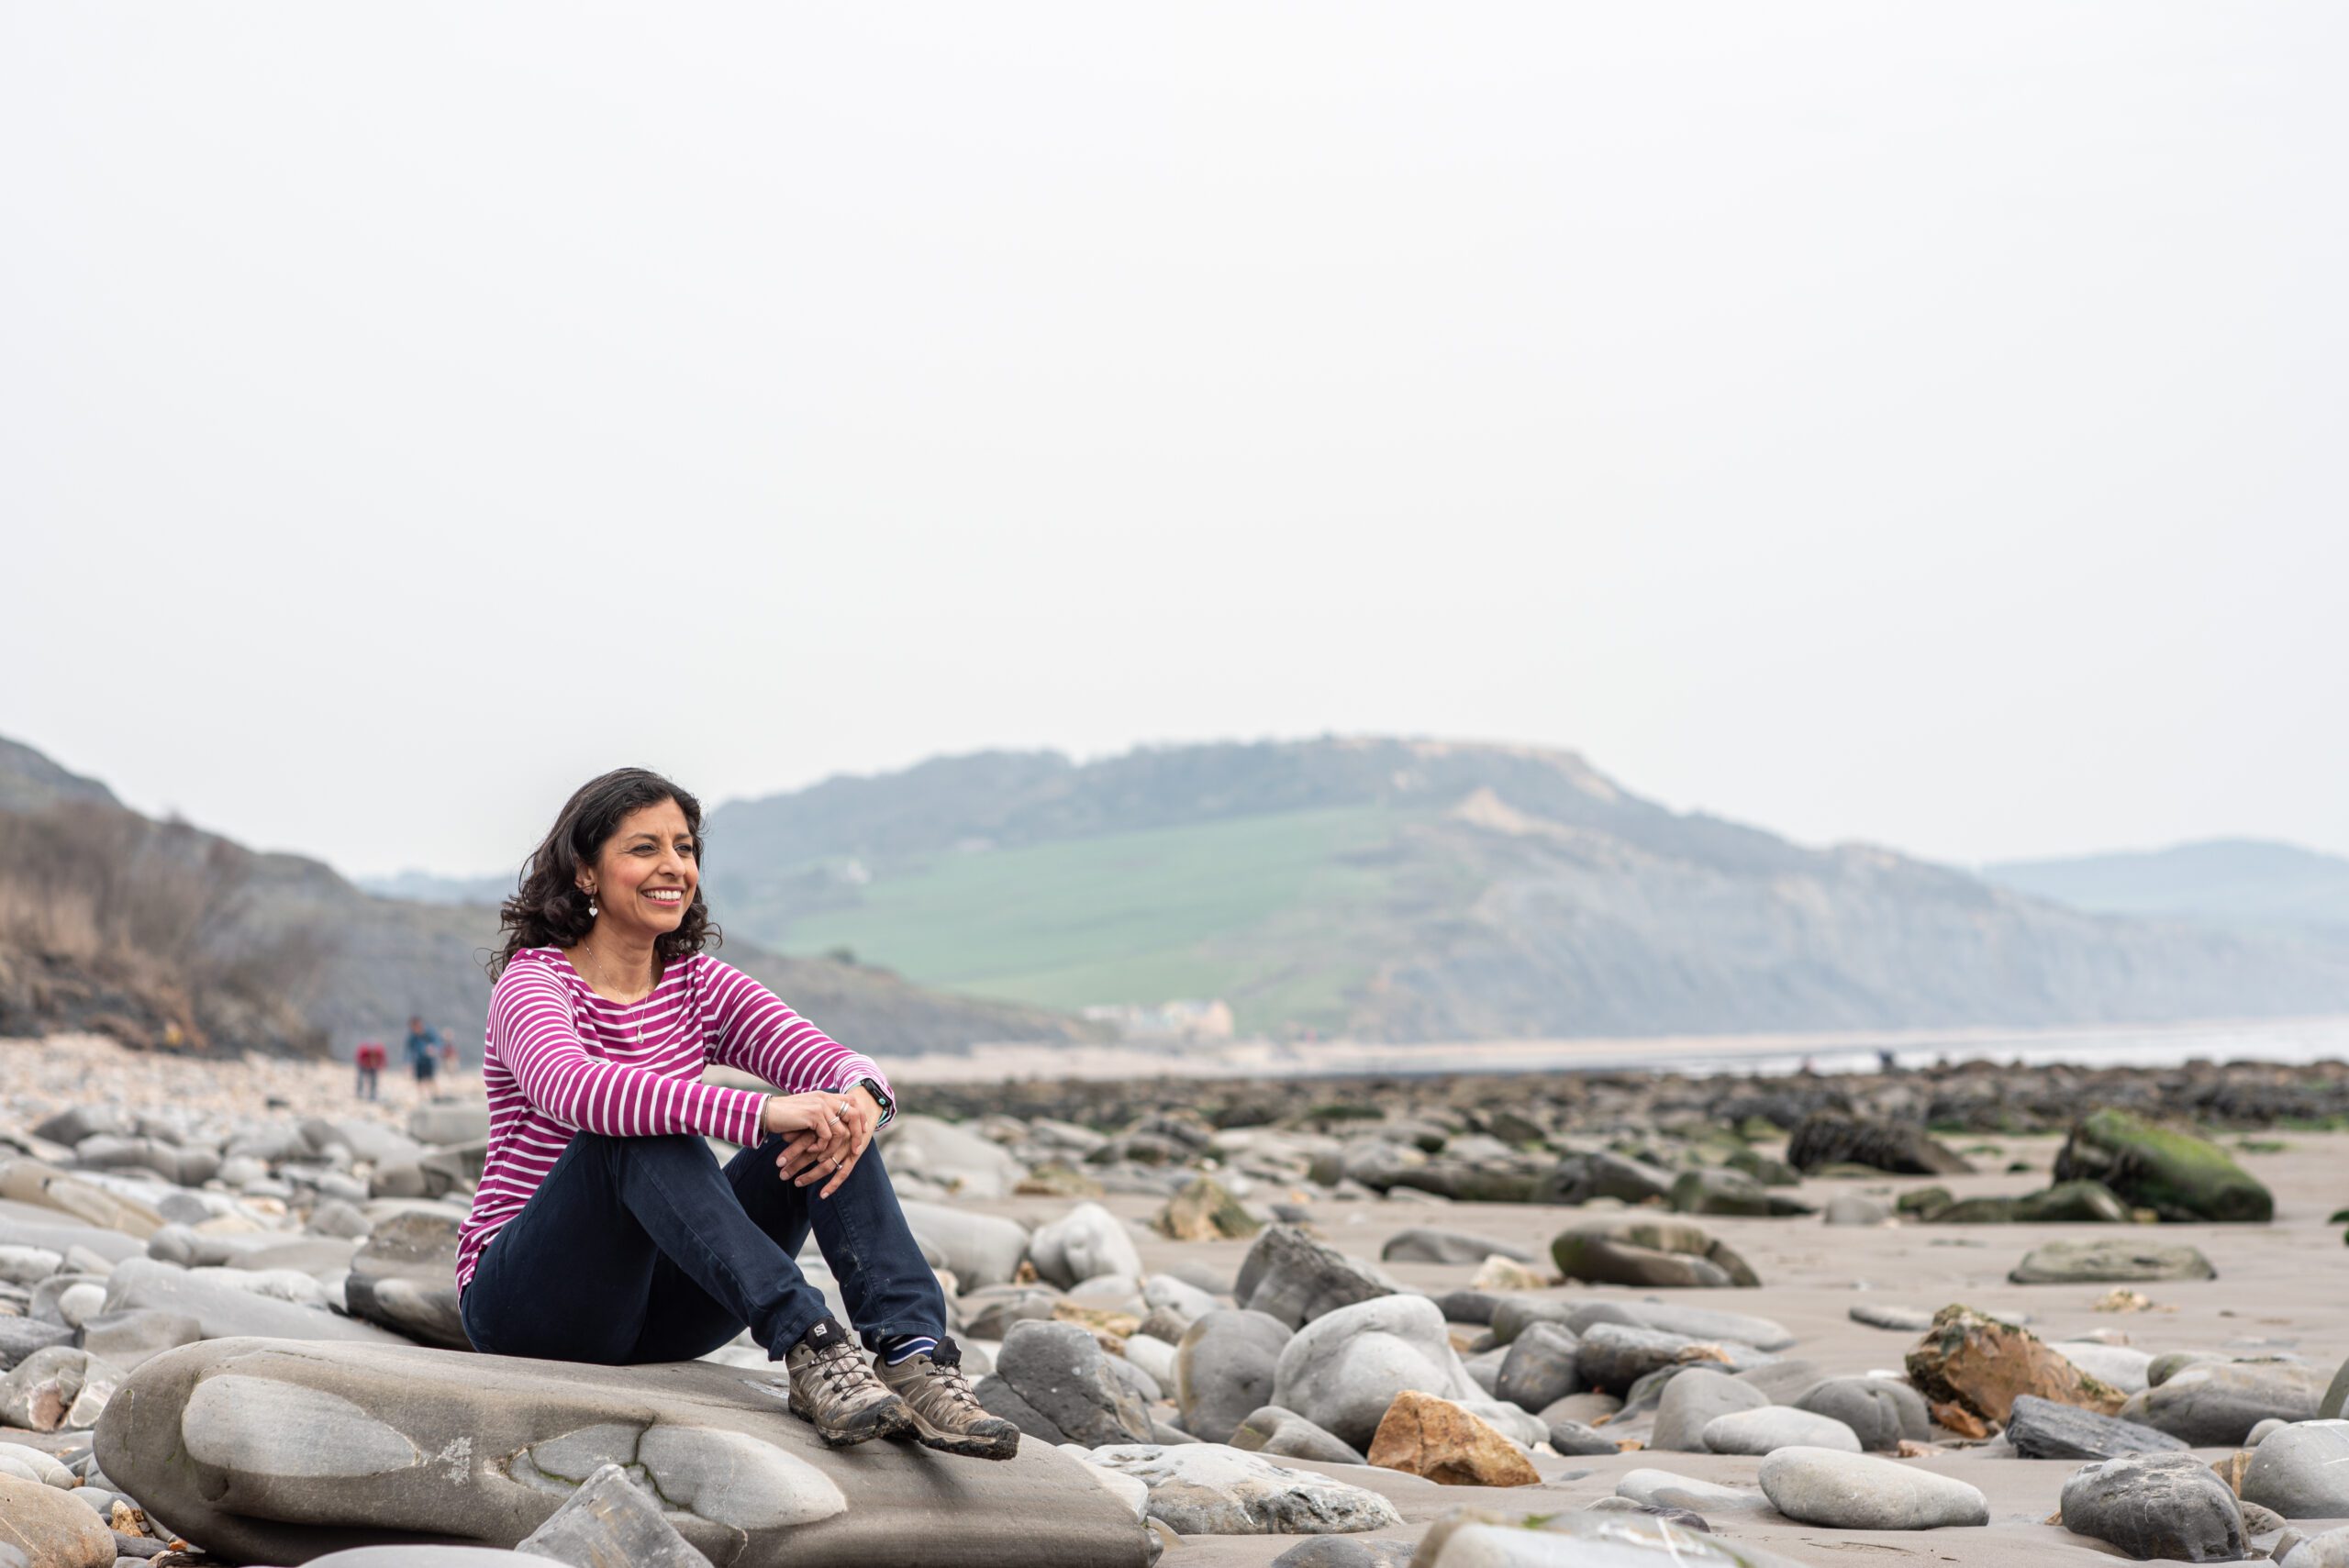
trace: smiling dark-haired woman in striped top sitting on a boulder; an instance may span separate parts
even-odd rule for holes
[[[832,1446],[911,1434],[1008,1460],[871,1150],[881,1068],[702,953],[702,807],[620,768],[564,805],[505,901],[482,1084],[489,1155],[458,1239],[474,1350],[686,1361],[745,1326]],[[700,1082],[714,1061],[782,1089]],[[707,1138],[740,1143],[723,1169]],[[808,1235],[874,1361],[794,1263]]]

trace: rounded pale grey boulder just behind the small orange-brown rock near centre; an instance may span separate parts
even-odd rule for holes
[[[1299,1329],[1273,1366],[1268,1404],[1297,1411],[1341,1444],[1369,1453],[1386,1406],[1405,1390],[1454,1399],[1480,1413],[1492,1404],[1468,1378],[1442,1312],[1426,1296],[1360,1300]],[[1534,1441],[1541,1441],[1539,1434]]]

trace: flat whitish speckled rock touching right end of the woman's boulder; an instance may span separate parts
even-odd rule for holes
[[[1365,1486],[1221,1444],[1113,1444],[1090,1460],[1149,1486],[1144,1512],[1177,1535],[1348,1535],[1402,1523],[1395,1505]]]

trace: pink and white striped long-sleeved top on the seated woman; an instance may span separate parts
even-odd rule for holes
[[[458,1230],[458,1291],[576,1131],[615,1138],[688,1131],[756,1143],[766,1096],[700,1082],[714,1061],[785,1094],[848,1089],[862,1077],[888,1087],[876,1061],[707,953],[672,962],[641,1002],[606,1002],[557,948],[514,953],[489,995],[482,1049],[489,1157]]]

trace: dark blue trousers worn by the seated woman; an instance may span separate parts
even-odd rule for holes
[[[691,1361],[745,1324],[782,1359],[827,1314],[799,1265],[808,1232],[869,1350],[947,1329],[937,1275],[867,1148],[832,1197],[775,1171],[782,1138],[723,1169],[693,1136],[576,1134],[465,1286],[474,1350],[550,1361]]]

